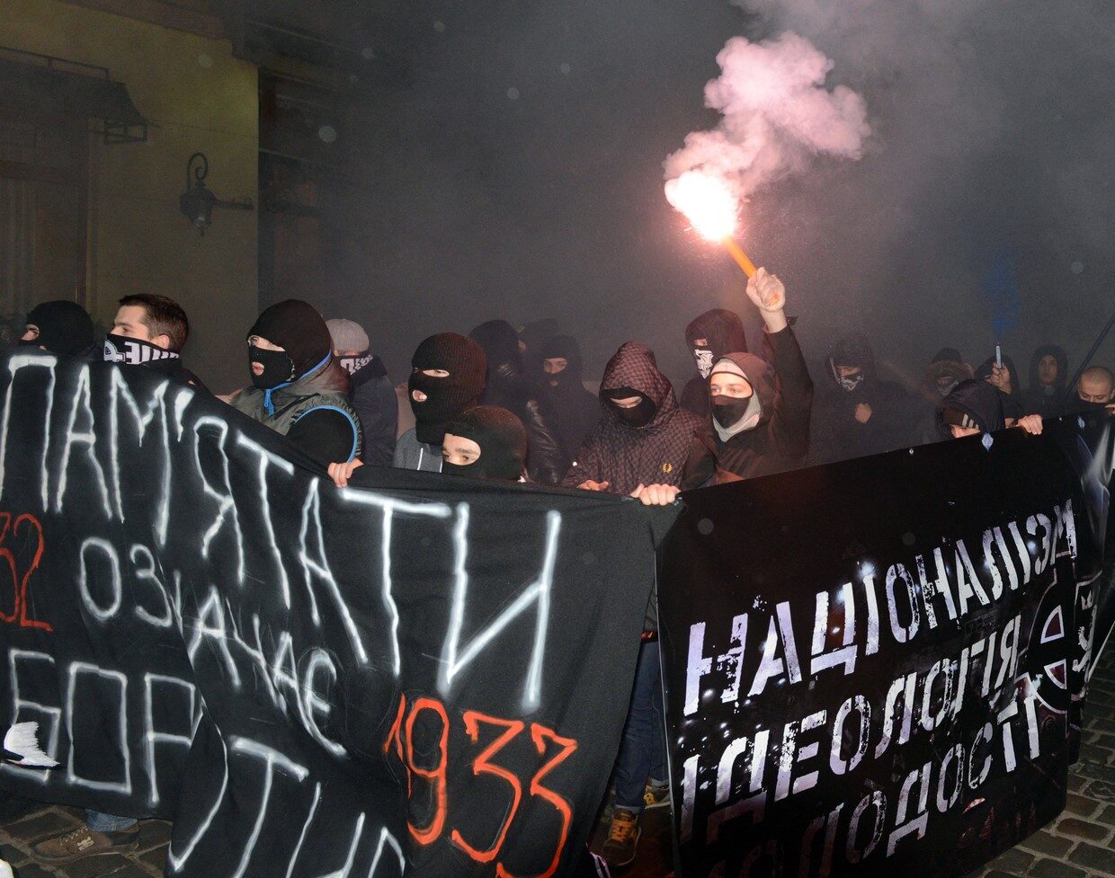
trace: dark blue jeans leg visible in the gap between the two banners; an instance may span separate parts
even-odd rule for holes
[[[623,741],[615,760],[615,806],[628,811],[642,811],[648,779],[667,780],[661,666],[658,641],[643,643],[634,670]]]

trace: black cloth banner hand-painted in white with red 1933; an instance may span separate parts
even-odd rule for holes
[[[142,368],[0,360],[0,705],[36,799],[204,878],[569,875],[655,576],[632,501],[366,467]],[[9,579],[10,576],[10,579]]]

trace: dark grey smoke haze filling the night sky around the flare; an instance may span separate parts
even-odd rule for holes
[[[725,123],[738,105],[778,118],[748,88],[706,95],[721,50],[728,67],[799,50],[805,95],[843,126],[830,144],[779,118],[778,143],[805,143],[754,150],[769,185],[740,178],[740,242],[786,282],[811,359],[863,331],[911,381],[939,348],[978,363],[1000,336],[1024,370],[1047,341],[1072,368],[1115,308],[1108,2],[506,0],[415,7],[407,33],[408,80],[342,131],[333,281],[316,296],[367,324],[396,380],[425,335],[497,316],[558,318],[589,378],[639,339],[687,379],[685,325],[709,308],[757,332],[743,275],[661,188],[663,156],[705,155],[687,134],[725,136],[702,97]],[[805,169],[817,144],[861,157]]]

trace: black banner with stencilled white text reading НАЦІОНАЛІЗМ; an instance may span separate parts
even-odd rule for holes
[[[1050,421],[685,495],[685,878],[953,878],[1060,812],[1107,514],[1082,448]]]

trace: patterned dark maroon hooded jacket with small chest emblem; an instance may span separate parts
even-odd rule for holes
[[[655,403],[655,416],[644,427],[631,427],[615,413],[607,391],[620,388],[637,390]],[[681,468],[700,419],[678,406],[650,348],[637,341],[620,347],[604,368],[600,404],[603,413],[563,485],[575,488],[591,479],[609,482],[611,494],[630,494],[640,484],[681,482]]]

